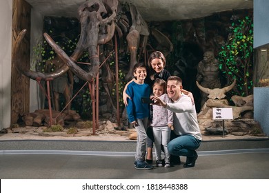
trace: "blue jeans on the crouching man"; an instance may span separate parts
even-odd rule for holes
[[[195,150],[199,148],[201,140],[192,135],[177,136],[167,145],[170,154],[175,156],[195,156]]]

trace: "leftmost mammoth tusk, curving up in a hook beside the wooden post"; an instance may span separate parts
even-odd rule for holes
[[[21,32],[19,33],[14,43],[14,50],[12,54],[14,58],[14,66],[17,68],[17,70],[19,70],[19,72],[24,74],[26,77],[29,77],[30,79],[34,79],[34,80],[36,80],[37,78],[39,79],[53,78],[54,79],[54,78],[60,77],[62,74],[65,74],[69,70],[67,65],[63,65],[63,67],[50,73],[34,72],[28,68],[25,68],[23,65],[19,65],[20,61],[19,61],[19,56],[17,56],[17,54],[19,52],[19,46],[21,45],[21,41],[23,40],[23,37],[25,36],[26,31],[27,31],[26,29],[21,30]]]

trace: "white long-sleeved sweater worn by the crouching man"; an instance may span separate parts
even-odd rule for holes
[[[174,132],[177,135],[192,135],[201,140],[201,132],[197,121],[195,105],[189,96],[181,94],[174,103],[167,103],[166,108],[174,112]]]

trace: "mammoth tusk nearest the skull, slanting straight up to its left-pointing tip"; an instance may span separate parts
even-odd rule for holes
[[[97,72],[99,70],[99,66],[95,67],[90,72],[84,71],[76,63],[74,63],[74,61],[72,59],[70,59],[70,57],[68,57],[66,52],[64,52],[59,47],[59,45],[57,45],[47,33],[44,33],[44,37],[45,37],[46,41],[48,41],[48,43],[50,44],[52,49],[59,55],[59,57],[66,63],[66,65],[68,65],[70,70],[72,70],[72,72],[74,72],[74,74],[76,74],[80,79],[83,79],[84,81],[92,81],[92,79],[94,79],[94,77],[96,77]],[[99,58],[98,58],[98,61],[99,61]]]

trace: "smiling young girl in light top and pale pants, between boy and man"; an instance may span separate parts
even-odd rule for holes
[[[159,98],[167,103],[171,103],[166,94],[166,81],[162,79],[156,79],[153,84],[153,94],[159,96]],[[170,154],[168,152],[167,144],[170,141],[170,132],[173,123],[173,114],[170,110],[163,108],[162,106],[152,105],[152,126],[153,136],[155,139],[155,154],[156,165],[162,167],[161,161],[161,145],[163,145],[164,167],[170,167]]]

